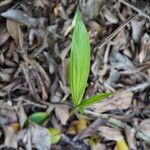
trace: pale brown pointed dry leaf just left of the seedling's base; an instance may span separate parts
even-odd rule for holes
[[[56,106],[55,108],[56,117],[60,120],[62,125],[66,125],[69,119],[69,108],[65,106]]]

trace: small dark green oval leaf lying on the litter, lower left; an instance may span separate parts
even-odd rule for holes
[[[29,122],[34,122],[38,125],[43,124],[49,117],[49,114],[46,112],[36,112],[29,116]]]

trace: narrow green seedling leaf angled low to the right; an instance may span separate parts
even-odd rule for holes
[[[101,93],[96,96],[93,96],[89,99],[83,100],[79,105],[77,105],[76,109],[83,109],[84,107],[91,106],[95,103],[100,102],[101,100],[107,98],[108,96],[113,95],[112,93]]]

